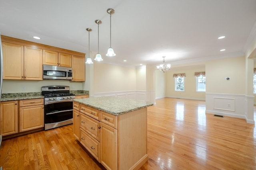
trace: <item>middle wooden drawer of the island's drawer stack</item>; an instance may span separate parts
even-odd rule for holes
[[[91,117],[81,114],[81,128],[100,141],[100,121],[92,119]]]

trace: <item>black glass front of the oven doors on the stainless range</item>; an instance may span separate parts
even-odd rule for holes
[[[57,102],[44,105],[44,123],[57,123],[73,118],[73,102]]]

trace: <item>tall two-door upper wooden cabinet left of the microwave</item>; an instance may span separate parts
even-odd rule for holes
[[[42,80],[42,49],[2,44],[4,80]]]

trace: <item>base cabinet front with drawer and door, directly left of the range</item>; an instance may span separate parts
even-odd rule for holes
[[[44,99],[20,100],[20,132],[44,127]]]

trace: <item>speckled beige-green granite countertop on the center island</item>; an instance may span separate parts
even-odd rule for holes
[[[151,102],[114,97],[92,97],[74,101],[116,116],[153,105]]]

